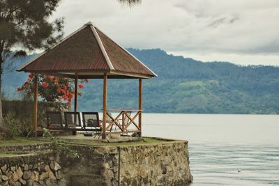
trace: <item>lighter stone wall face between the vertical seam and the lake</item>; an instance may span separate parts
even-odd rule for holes
[[[188,142],[121,147],[121,185],[183,185],[190,183]],[[111,166],[108,172],[114,171]]]

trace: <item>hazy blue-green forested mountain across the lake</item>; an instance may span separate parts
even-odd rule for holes
[[[240,66],[228,62],[203,63],[161,49],[128,49],[158,77],[144,79],[144,112],[199,114],[278,114],[279,68],[264,65]],[[30,59],[31,56],[28,56]],[[27,59],[15,61],[13,68]],[[4,93],[15,98],[15,88],[27,75],[3,75]],[[109,79],[107,107],[137,109],[137,79]],[[100,111],[102,79],[84,84],[80,111]],[[13,93],[13,95],[11,95]]]

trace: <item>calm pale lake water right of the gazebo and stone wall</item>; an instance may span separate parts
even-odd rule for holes
[[[278,115],[143,114],[142,123],[144,136],[189,141],[191,186],[279,185]]]

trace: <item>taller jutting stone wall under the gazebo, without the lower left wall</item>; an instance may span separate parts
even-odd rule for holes
[[[193,180],[187,141],[75,149],[80,159],[61,159],[67,185],[117,185],[119,176],[120,185],[186,185]]]

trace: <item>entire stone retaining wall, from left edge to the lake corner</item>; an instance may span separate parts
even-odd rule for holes
[[[0,157],[0,185],[110,186],[118,185],[120,180],[120,185],[165,186],[187,185],[193,180],[188,141],[71,147],[77,150],[79,158],[61,153],[60,160],[54,161],[50,144],[0,146],[0,152],[33,152]]]

